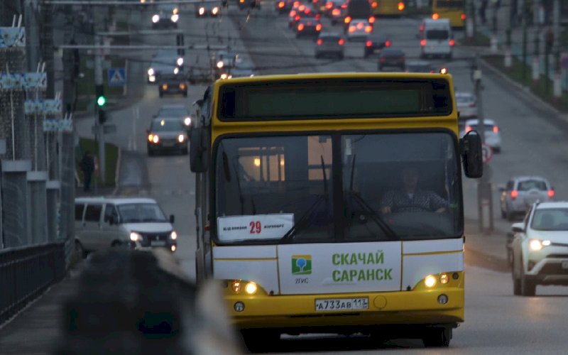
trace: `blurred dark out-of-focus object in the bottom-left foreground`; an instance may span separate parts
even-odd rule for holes
[[[167,251],[94,253],[65,302],[55,354],[241,354],[217,283],[197,289]]]

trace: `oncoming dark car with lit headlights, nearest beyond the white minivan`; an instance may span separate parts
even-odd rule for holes
[[[179,118],[157,117],[152,119],[148,135],[148,155],[162,151],[178,151],[187,154],[187,129]]]

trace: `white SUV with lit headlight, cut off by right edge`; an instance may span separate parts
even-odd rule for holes
[[[515,295],[534,296],[537,285],[568,285],[568,202],[535,203],[511,229]]]

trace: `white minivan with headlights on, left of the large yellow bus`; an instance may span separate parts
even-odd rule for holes
[[[178,234],[157,202],[149,198],[75,199],[75,249],[80,255],[109,246],[177,249]]]

